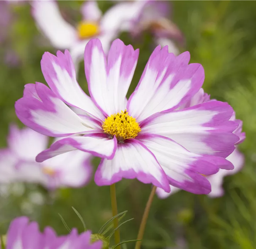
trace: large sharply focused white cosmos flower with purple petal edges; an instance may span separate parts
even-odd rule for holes
[[[171,184],[209,193],[211,185],[202,174],[233,169],[225,159],[238,141],[232,107],[212,101],[177,110],[200,90],[204,69],[188,64],[189,52],[176,57],[167,46],[156,47],[127,100],[138,56],[138,50],[119,39],[108,56],[99,39],[90,40],[84,52],[89,97],[76,81],[68,51],[43,55],[41,69],[50,89],[38,82],[26,85],[16,114],[41,134],[76,137],[56,141],[36,160],[82,150],[102,158],[94,178],[100,186],[137,178],[166,192]]]

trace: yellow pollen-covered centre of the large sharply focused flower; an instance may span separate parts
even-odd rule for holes
[[[137,137],[140,132],[139,123],[126,110],[105,118],[102,128],[104,133],[111,136],[116,135],[116,139],[121,142],[125,139]]]

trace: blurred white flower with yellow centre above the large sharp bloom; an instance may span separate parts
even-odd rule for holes
[[[85,1],[81,7],[82,21],[76,27],[63,19],[56,1],[33,0],[31,4],[35,22],[52,46],[69,49],[77,64],[83,57],[85,45],[93,37],[101,40],[103,49],[107,52],[111,42],[118,36],[122,23],[137,18],[143,2],[116,4],[102,15],[97,1]]]

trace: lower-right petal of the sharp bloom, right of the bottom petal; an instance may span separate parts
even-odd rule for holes
[[[215,156],[211,158],[212,156],[191,153],[173,140],[160,135],[147,134],[138,139],[154,153],[171,185],[195,194],[207,194],[211,191],[210,183],[202,174],[215,174],[223,167],[222,164],[215,163]],[[228,162],[226,164],[229,165]]]

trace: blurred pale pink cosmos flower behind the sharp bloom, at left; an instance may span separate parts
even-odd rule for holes
[[[48,146],[48,137],[29,128],[10,127],[8,148],[0,150],[0,182],[39,183],[49,189],[80,187],[91,176],[91,155],[71,151],[43,163],[35,161]]]

